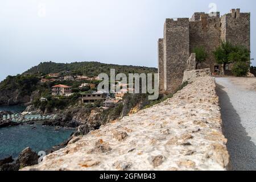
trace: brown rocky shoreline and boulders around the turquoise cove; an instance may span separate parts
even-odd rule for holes
[[[34,109],[34,110],[33,110]],[[27,113],[30,114],[56,114],[58,115],[57,119],[55,120],[44,120],[42,121],[43,126],[52,126],[56,127],[56,130],[58,130],[60,127],[62,128],[73,128],[76,129],[74,133],[71,134],[71,137],[69,137],[67,140],[65,140],[63,143],[60,143],[57,146],[52,146],[48,150],[46,150],[46,154],[51,154],[52,152],[55,152],[57,150],[60,150],[61,148],[64,148],[67,146],[67,144],[74,138],[79,135],[86,135],[92,130],[97,130],[102,125],[102,117],[101,109],[93,109],[88,110],[84,107],[73,107],[69,108],[67,110],[61,111],[57,110],[54,113],[42,113],[39,110],[36,110],[34,106],[29,105],[27,106],[26,110],[24,110]],[[11,126],[17,126],[17,125],[23,125],[24,123],[18,123],[13,122],[11,119],[8,119],[6,121],[3,121],[2,116],[7,114],[14,114],[11,111],[0,111],[0,128],[1,127],[11,127]],[[26,122],[28,125],[34,125],[34,122],[29,121]],[[23,155],[26,155],[27,160],[20,162],[19,158],[24,158]],[[31,156],[30,156],[31,155]],[[31,151],[30,148],[25,148],[22,152],[20,152],[18,159],[14,160],[12,156],[9,156],[5,159],[0,159],[0,171],[18,171],[22,167],[26,166],[32,166],[35,164],[38,164],[37,161],[34,161],[33,163],[30,162],[31,158],[38,160],[38,158],[35,157],[37,154],[33,151]]]

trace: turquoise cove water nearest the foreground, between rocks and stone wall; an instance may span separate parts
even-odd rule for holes
[[[36,127],[36,129],[33,129]],[[34,126],[27,124],[4,127],[0,129],[0,159],[7,156],[18,157],[26,147],[39,152],[51,149],[65,140],[73,133],[72,129],[58,129],[51,126],[42,126],[35,123]]]

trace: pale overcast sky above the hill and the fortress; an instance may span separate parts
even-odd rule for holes
[[[256,57],[255,0],[1,0],[0,80],[42,61],[157,67],[164,20],[208,13],[210,3],[221,15],[235,8],[251,12]]]

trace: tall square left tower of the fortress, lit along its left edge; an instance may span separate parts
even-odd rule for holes
[[[189,57],[189,19],[166,19],[163,44],[164,90],[171,93],[181,84]]]

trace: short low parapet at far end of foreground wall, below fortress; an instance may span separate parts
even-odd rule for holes
[[[195,81],[197,77],[208,77],[210,75],[212,75],[212,72],[210,72],[210,68],[185,71],[183,76],[183,82],[192,82]]]

